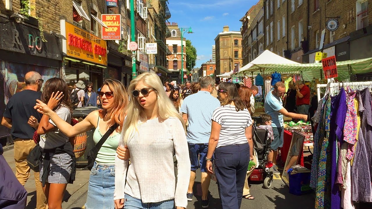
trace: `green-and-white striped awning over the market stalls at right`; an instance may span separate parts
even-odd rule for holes
[[[336,62],[338,79],[348,80],[350,74],[369,73],[372,71],[372,58],[362,60],[348,60]],[[311,81],[314,78],[318,79],[323,77],[323,65],[316,64],[254,64],[247,70],[239,72],[238,76],[251,75],[259,73],[260,69],[264,69],[266,73],[300,73],[304,80]]]

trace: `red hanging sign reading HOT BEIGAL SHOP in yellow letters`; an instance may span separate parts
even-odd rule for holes
[[[121,15],[102,15],[102,22],[108,28],[102,26],[102,39],[121,40]]]

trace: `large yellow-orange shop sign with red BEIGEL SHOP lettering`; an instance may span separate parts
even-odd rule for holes
[[[92,33],[61,20],[61,34],[67,40],[63,42],[63,52],[68,57],[107,65],[107,43]]]

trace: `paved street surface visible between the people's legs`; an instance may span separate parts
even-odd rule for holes
[[[15,171],[15,164],[13,159],[13,149],[4,152],[4,157],[9,163],[10,167]],[[67,185],[67,192],[65,193],[63,209],[80,209],[84,206],[87,198],[89,171],[78,170],[76,174],[76,181],[74,184]],[[36,203],[35,183],[33,175],[30,176],[25,187],[28,191],[28,205],[26,209],[34,209]],[[274,179],[272,188],[263,189],[263,184],[252,184],[251,194],[256,198],[255,200],[243,199],[241,208],[259,208],[259,209],[297,209],[298,203],[301,202],[301,209],[314,208],[314,194],[307,194],[302,196],[295,196],[289,194],[289,189],[281,179],[276,177]],[[194,194],[192,202],[189,202],[187,209],[201,208],[201,184],[200,172],[197,172],[197,177],[194,186]],[[218,197],[218,189],[215,181],[211,181],[210,191],[210,209],[221,209],[221,200]],[[293,204],[292,204],[293,203]]]

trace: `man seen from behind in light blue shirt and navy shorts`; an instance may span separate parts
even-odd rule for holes
[[[202,207],[208,208],[208,188],[211,177],[206,170],[206,155],[208,142],[211,136],[212,114],[220,107],[218,99],[211,95],[215,80],[210,76],[202,77],[200,80],[200,91],[187,96],[181,106],[182,118],[188,122],[187,142],[191,161],[191,176],[187,200],[192,201],[195,171],[200,168],[202,172]],[[198,159],[200,156],[200,159]]]

